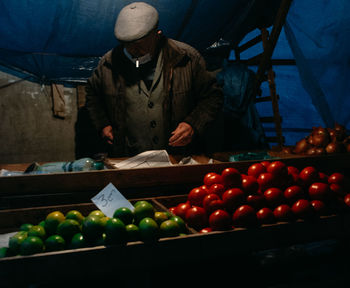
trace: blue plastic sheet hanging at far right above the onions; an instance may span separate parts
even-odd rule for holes
[[[348,0],[297,0],[285,26],[303,86],[327,127],[350,127],[349,9]]]

